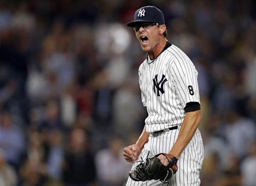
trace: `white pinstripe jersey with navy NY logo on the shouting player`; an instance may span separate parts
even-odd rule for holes
[[[142,104],[148,112],[145,120],[148,133],[181,125],[186,104],[200,103],[197,70],[174,45],[154,60],[147,57],[139,67],[139,84]]]

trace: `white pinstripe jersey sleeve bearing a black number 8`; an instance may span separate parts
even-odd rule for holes
[[[175,56],[171,65],[172,82],[183,108],[189,102],[198,102],[199,90],[197,82],[197,70],[189,57],[179,50],[180,55]]]

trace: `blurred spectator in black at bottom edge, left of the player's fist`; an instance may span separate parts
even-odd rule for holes
[[[94,157],[82,129],[74,129],[70,133],[62,176],[67,186],[96,185]]]

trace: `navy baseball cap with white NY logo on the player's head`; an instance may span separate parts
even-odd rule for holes
[[[164,24],[164,14],[155,6],[143,6],[134,13],[134,21],[127,23],[127,26],[134,27],[138,22]]]

